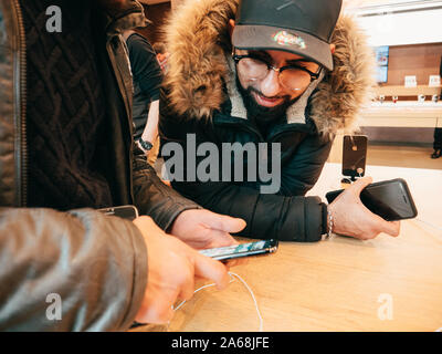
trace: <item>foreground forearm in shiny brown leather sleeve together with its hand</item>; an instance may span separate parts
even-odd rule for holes
[[[125,331],[170,320],[194,277],[225,267],[165,235],[91,209],[0,209],[0,331]],[[147,250],[147,252],[146,252]]]

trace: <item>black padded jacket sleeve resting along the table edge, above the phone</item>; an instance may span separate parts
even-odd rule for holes
[[[246,221],[240,236],[315,242],[326,232],[326,206],[318,197],[262,195],[231,183],[172,183],[173,188],[204,208]]]

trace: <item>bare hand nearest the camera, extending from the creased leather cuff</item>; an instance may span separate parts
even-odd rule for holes
[[[192,298],[194,278],[211,279],[219,290],[229,284],[228,270],[221,262],[166,235],[149,217],[139,217],[134,223],[145,238],[148,253],[148,282],[135,321],[169,322],[173,316],[173,303]]]

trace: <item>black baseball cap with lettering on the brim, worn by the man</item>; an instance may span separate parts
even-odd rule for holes
[[[329,44],[341,7],[343,0],[241,0],[232,43],[291,52],[333,70]]]

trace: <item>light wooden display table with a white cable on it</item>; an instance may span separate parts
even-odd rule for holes
[[[442,170],[368,166],[375,181],[404,178],[419,218],[442,228]],[[311,195],[340,188],[340,166],[327,164]],[[232,269],[253,290],[264,331],[435,331],[442,327],[442,231],[417,220],[399,238],[335,237],[280,243],[275,254]],[[201,283],[203,284],[203,283]],[[201,285],[198,284],[198,285]],[[146,326],[138,331],[165,331]],[[169,331],[257,331],[259,317],[240,281],[198,292]]]

